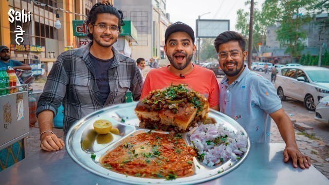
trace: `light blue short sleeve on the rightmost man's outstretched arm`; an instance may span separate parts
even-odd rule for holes
[[[281,100],[273,84],[263,77],[253,80],[253,94],[258,101],[256,104],[267,114],[271,114],[282,108]]]

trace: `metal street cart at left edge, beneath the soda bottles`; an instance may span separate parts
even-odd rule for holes
[[[29,106],[27,86],[22,91],[0,96],[0,173],[25,158],[29,135]],[[3,178],[1,178],[3,179]]]

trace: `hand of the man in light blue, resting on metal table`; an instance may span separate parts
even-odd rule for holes
[[[298,150],[297,144],[286,144],[286,148],[283,151],[284,162],[288,162],[289,157],[291,157],[291,160],[293,160],[294,168],[298,168],[297,161],[301,169],[310,167],[310,158],[308,156],[303,155]]]

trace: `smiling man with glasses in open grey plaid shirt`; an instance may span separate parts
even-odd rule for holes
[[[60,150],[64,141],[52,132],[52,120],[64,103],[64,135],[79,119],[100,108],[123,103],[126,91],[139,100],[143,80],[136,62],[112,45],[117,41],[122,11],[110,3],[97,3],[87,18],[86,47],[63,52],[49,72],[36,114],[40,126],[41,148]]]

